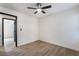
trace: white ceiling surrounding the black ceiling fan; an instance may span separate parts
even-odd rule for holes
[[[37,18],[73,8],[78,4],[77,3],[42,3],[42,6],[47,6],[47,5],[52,5],[52,8],[46,9],[45,10],[46,14],[42,14],[41,12],[34,14],[35,10],[27,9],[27,7],[36,7],[35,3],[0,3],[0,6],[2,7],[19,11],[21,13],[28,14]]]

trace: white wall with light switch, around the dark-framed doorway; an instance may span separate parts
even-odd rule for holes
[[[29,42],[38,40],[38,20],[36,18],[3,7],[0,7],[0,12],[16,15],[18,17],[18,45],[27,44]],[[22,31],[20,31],[20,28],[22,28]],[[0,27],[0,30],[1,29],[2,27]]]

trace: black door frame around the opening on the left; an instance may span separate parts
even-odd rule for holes
[[[4,27],[3,27],[4,26],[4,19],[9,19],[9,20],[15,20],[15,45],[17,47],[17,16],[3,13],[3,12],[0,12],[0,14],[15,17],[15,19],[2,18],[2,46],[4,46]]]

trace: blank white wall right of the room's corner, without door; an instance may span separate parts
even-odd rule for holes
[[[40,18],[40,39],[79,51],[79,9]]]

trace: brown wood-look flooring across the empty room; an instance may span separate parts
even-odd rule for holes
[[[0,56],[79,56],[78,51],[43,41],[35,41],[10,51],[0,48]]]

